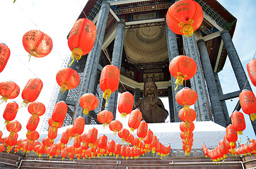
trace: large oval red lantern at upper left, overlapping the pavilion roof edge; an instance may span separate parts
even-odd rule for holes
[[[96,26],[91,20],[87,18],[76,20],[68,38],[68,45],[72,51],[71,57],[73,58],[71,64],[74,60],[78,61],[81,56],[88,54],[93,49],[96,34]]]

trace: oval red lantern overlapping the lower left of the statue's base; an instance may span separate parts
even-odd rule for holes
[[[142,113],[141,111],[139,111],[139,109],[135,109],[129,115],[128,125],[132,132],[134,132],[134,130],[137,129],[141,124],[141,118],[142,118]]]

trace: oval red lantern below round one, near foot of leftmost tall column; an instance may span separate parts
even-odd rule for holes
[[[52,120],[56,123],[62,123],[66,117],[66,111],[68,111],[68,106],[64,101],[59,101],[55,104],[52,111]],[[54,125],[58,126],[58,124]]]

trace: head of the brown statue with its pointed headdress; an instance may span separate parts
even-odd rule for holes
[[[153,95],[156,97],[158,95],[158,89],[156,86],[156,82],[153,80],[153,77],[147,77],[146,82],[144,82],[143,96],[145,97],[148,95]]]

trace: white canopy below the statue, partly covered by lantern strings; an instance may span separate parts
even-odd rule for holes
[[[153,134],[158,137],[159,142],[164,146],[167,146],[170,143],[172,149],[182,149],[182,139],[180,138],[180,123],[149,123],[149,129]],[[109,127],[103,127],[103,125],[85,125],[84,132],[88,132],[89,129],[95,127],[98,130],[98,137],[105,134],[107,140],[114,140],[116,143],[122,144],[118,134],[113,134]],[[129,130],[128,126],[124,126]],[[54,139],[54,143],[58,142],[62,137],[62,132],[66,131],[66,127],[59,128],[57,138]],[[134,137],[136,136],[136,130],[132,132]],[[206,144],[207,147],[216,147],[221,139],[226,134],[226,128],[218,125],[212,121],[204,122],[194,122],[194,142],[192,149],[202,148],[202,142]],[[40,134],[39,141],[42,142],[42,139],[47,137],[47,132]],[[72,144],[72,142],[70,143]]]

